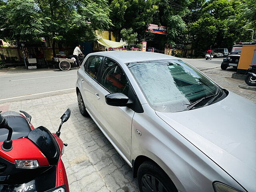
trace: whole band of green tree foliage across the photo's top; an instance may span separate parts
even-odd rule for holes
[[[0,0],[0,38],[60,42],[96,38],[111,30],[118,41],[192,42],[196,52],[230,48],[250,41],[256,26],[255,0]],[[146,32],[149,24],[168,27],[168,35]],[[121,33],[122,31],[122,33]]]

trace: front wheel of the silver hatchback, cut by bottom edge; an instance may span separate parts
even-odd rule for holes
[[[143,162],[137,176],[140,192],[178,192],[164,170],[152,161]]]

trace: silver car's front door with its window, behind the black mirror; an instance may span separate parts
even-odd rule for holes
[[[98,94],[98,119],[100,126],[108,134],[124,157],[130,161],[131,128],[134,111],[128,107],[116,107],[106,104],[105,96],[122,92],[130,98],[132,89],[120,65],[106,58],[95,94]],[[121,154],[121,155],[122,155]]]

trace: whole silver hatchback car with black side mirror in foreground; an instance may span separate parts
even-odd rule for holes
[[[255,192],[256,104],[183,60],[136,51],[86,56],[76,82],[141,192]]]

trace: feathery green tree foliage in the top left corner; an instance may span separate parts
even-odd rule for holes
[[[0,3],[0,36],[9,41],[35,40],[44,34],[43,18],[34,0]]]

